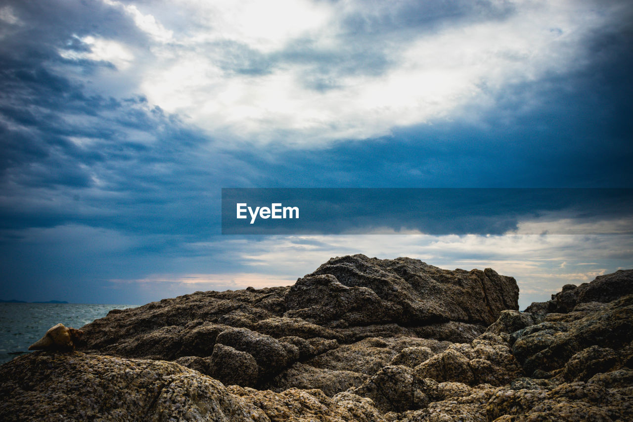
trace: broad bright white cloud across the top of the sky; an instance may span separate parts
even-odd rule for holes
[[[630,15],[623,2],[567,1],[56,6],[47,21],[10,9],[32,22],[21,35],[53,35],[32,45],[55,46],[49,67],[94,94],[140,94],[225,148],[315,148],[487,110],[508,87],[586,67],[596,34]]]

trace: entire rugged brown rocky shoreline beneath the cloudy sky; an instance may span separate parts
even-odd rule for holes
[[[1,420],[633,420],[633,270],[519,312],[492,269],[353,255],[82,331],[0,366]]]

